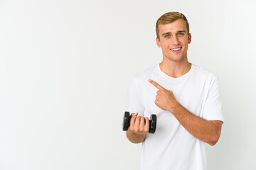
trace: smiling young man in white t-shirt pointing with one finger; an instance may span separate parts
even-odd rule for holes
[[[188,62],[191,34],[182,13],[161,16],[156,35],[163,60],[131,81],[127,138],[142,142],[142,170],[206,169],[205,142],[215,145],[224,120],[218,77]],[[154,134],[148,133],[151,114]]]

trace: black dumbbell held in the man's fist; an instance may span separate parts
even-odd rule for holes
[[[124,112],[124,122],[123,122],[123,130],[127,131],[129,128],[129,123],[131,120],[131,116],[129,115],[129,112]],[[149,133],[156,132],[156,115],[150,115],[149,120]]]

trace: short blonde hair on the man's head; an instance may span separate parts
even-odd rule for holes
[[[183,21],[186,22],[186,28],[189,33],[189,25],[188,25],[188,20],[187,20],[186,16],[184,16],[182,13],[179,13],[179,12],[169,12],[169,13],[164,13],[164,15],[160,16],[160,18],[156,21],[156,36],[157,36],[157,38],[159,38],[159,25],[172,23],[178,19],[183,19]]]

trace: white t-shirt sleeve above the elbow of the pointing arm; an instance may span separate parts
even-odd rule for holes
[[[221,120],[224,122],[221,109],[220,83],[218,77],[214,77],[210,82],[206,105],[203,110],[203,118],[206,120]]]

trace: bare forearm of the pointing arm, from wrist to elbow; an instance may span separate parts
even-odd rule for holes
[[[218,142],[222,121],[211,121],[200,118],[189,112],[186,108],[181,106],[180,103],[177,103],[176,106],[171,109],[171,113],[174,114],[181,125],[194,137],[209,145],[215,145],[215,143]]]

